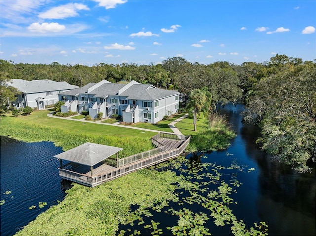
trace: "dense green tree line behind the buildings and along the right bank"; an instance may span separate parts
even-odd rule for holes
[[[0,61],[1,108],[16,90],[10,79],[50,79],[82,87],[106,79],[113,83],[135,80],[158,88],[175,89],[196,98],[197,112],[215,104],[243,102],[245,122],[258,124],[262,148],[299,172],[310,171],[316,159],[316,61],[279,55],[263,63],[214,62],[203,65],[174,57],[161,64],[61,65]],[[195,96],[194,96],[195,93]],[[13,97],[13,98],[12,98]],[[196,116],[195,116],[196,117]],[[313,164],[315,165],[315,164]]]

